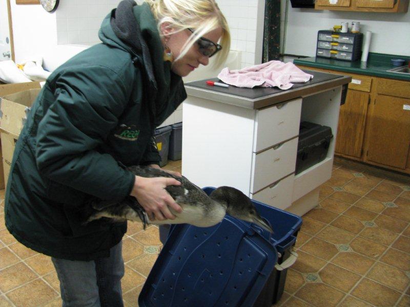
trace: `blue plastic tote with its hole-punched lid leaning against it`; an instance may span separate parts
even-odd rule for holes
[[[214,189],[203,190],[210,194]],[[302,220],[283,210],[252,202],[272,225],[273,235],[229,215],[208,228],[172,225],[141,290],[139,306],[248,307],[262,294],[269,297],[265,292],[273,296],[275,290],[280,290],[276,281],[279,279],[284,284],[285,275],[275,275],[273,282],[272,275],[296,259],[292,255],[291,261],[286,261],[285,255],[292,252]],[[282,267],[277,264],[279,254]],[[272,305],[272,296],[268,298],[269,305],[265,302],[266,306]]]

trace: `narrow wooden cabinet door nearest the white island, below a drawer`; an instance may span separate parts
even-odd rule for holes
[[[347,91],[346,102],[340,106],[336,152],[361,157],[368,99],[368,93]]]

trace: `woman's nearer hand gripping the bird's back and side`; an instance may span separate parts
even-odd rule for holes
[[[181,185],[181,183],[173,178],[135,176],[131,195],[144,208],[151,221],[174,220],[175,215],[171,213],[168,207],[175,212],[182,212],[182,208],[165,189],[169,185]]]

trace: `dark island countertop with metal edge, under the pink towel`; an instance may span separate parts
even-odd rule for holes
[[[245,89],[234,85],[230,85],[228,88],[207,85],[207,80],[221,82],[218,78],[185,83],[185,89],[189,96],[206,98],[249,109],[260,109],[291,99],[313,95],[320,91],[330,90],[352,80],[349,76],[307,70],[304,70],[304,72],[313,75],[313,79],[306,83],[294,83],[289,90],[280,90],[277,87]]]

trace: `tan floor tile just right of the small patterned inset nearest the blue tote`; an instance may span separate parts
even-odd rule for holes
[[[327,264],[327,266],[319,272],[319,276],[324,283],[343,292],[350,291],[361,278],[360,275],[333,264]]]

